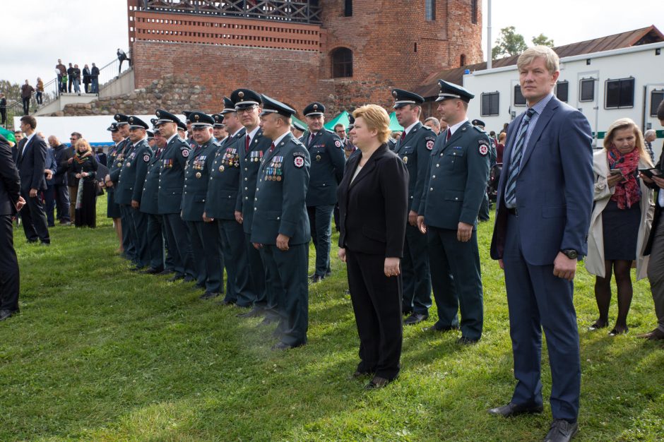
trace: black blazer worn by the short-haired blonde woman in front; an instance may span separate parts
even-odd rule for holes
[[[384,144],[351,183],[361,158],[361,154],[348,158],[337,190],[341,220],[339,246],[401,258],[408,221],[408,169]]]

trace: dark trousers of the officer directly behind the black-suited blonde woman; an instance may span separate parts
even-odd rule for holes
[[[427,235],[410,224],[405,227],[401,274],[403,311],[428,314],[431,306],[431,273],[427,255]]]

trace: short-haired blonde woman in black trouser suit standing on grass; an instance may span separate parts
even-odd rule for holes
[[[390,119],[382,107],[353,112],[360,152],[339,185],[339,258],[348,266],[350,299],[360,335],[353,376],[373,374],[367,388],[397,378],[401,358],[401,269],[408,219],[408,170],[387,146]]]

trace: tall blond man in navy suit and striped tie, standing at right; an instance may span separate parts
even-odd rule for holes
[[[491,257],[505,271],[518,382],[509,404],[490,413],[543,411],[543,328],[553,414],[545,441],[569,441],[578,429],[581,390],[573,281],[576,259],[586,254],[593,208],[591,128],[581,112],[552,94],[559,76],[552,49],[530,48],[517,66],[528,110],[507,129]]]

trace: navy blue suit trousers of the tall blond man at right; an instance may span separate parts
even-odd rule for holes
[[[533,226],[533,229],[535,226]],[[506,225],[505,285],[509,334],[517,380],[511,402],[542,404],[542,328],[551,366],[551,412],[554,419],[576,422],[581,391],[579,329],[574,284],[553,275],[553,264],[532,265],[523,257],[518,217]]]

